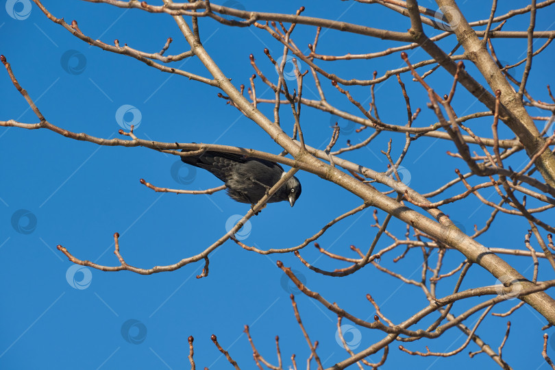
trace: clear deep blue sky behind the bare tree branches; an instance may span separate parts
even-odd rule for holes
[[[118,136],[124,121],[136,119],[136,134],[140,138],[162,142],[195,142],[235,145],[279,153],[273,143],[255,123],[235,108],[225,105],[210,86],[190,81],[177,75],[161,73],[132,58],[102,51],[73,37],[65,29],[49,21],[36,5],[26,7],[27,0],[6,3],[0,10],[0,53],[8,58],[18,81],[35,100],[47,120],[73,132],[85,132],[102,138]],[[243,0],[228,1],[228,5],[246,9],[293,13],[297,2],[264,3]],[[486,18],[489,5],[476,6],[466,1],[461,5],[469,20]],[[498,14],[521,5],[521,1],[499,3]],[[169,54],[187,51],[173,19],[167,14],[149,14],[140,10],[121,10],[109,5],[67,1],[48,2],[47,8],[57,17],[71,22],[94,39],[111,44],[114,39],[130,47],[147,52],[159,51],[168,37],[173,38]],[[341,18],[351,23],[371,27],[391,27],[405,31],[408,19],[378,5],[364,5],[349,1],[304,3],[306,15]],[[421,5],[436,9],[432,2]],[[8,12],[10,10],[10,12]],[[15,12],[14,12],[15,10]],[[536,29],[553,29],[552,15],[540,12]],[[19,18],[19,19],[18,19]],[[511,21],[506,29],[526,29],[528,16]],[[258,66],[269,77],[277,76],[262,50],[270,49],[274,56],[282,53],[269,35],[255,27],[229,28],[211,19],[200,19],[201,38],[207,51],[232,82],[249,84],[253,73],[249,54],[253,53]],[[430,36],[437,30],[429,30]],[[297,45],[307,45],[314,39],[314,29],[298,26],[294,34]],[[450,51],[454,38],[440,42]],[[539,47],[543,43],[538,42]],[[320,53],[368,53],[396,42],[348,36],[336,31],[323,32],[319,41]],[[499,58],[515,62],[525,56],[525,40],[495,40]],[[550,58],[545,58],[550,56]],[[548,101],[545,90],[545,71],[548,70],[552,49],[544,58],[534,60],[528,89],[537,91],[538,98]],[[428,59],[422,51],[411,51],[412,61]],[[379,60],[358,60],[321,65],[345,77],[369,78],[372,71],[382,75],[388,69],[403,65],[398,53]],[[329,63],[329,62],[328,62]],[[469,71],[474,71],[469,62]],[[194,58],[176,62],[175,66],[208,77],[200,62]],[[306,69],[302,66],[301,69]],[[523,66],[517,69],[521,73]],[[309,78],[304,96],[317,99],[316,89]],[[432,112],[425,108],[426,97],[421,86],[402,75],[413,110],[423,112],[417,120],[421,126],[434,123]],[[429,78],[438,93],[447,93],[451,77],[439,70]],[[480,79],[481,81],[481,79]],[[329,82],[323,81],[328,99],[338,108],[356,113],[343,95]],[[7,73],[0,72],[1,120],[16,119],[26,123],[38,120],[25,100],[12,86]],[[447,91],[443,91],[447,89]],[[368,88],[349,88],[364,101]],[[404,99],[395,79],[376,88],[378,110],[384,121],[406,121]],[[257,79],[257,94],[271,99],[273,93]],[[123,108],[122,108],[123,107]],[[486,110],[468,93],[458,88],[454,107],[459,115]],[[262,106],[262,112],[272,117],[273,106]],[[127,114],[125,114],[127,112]],[[465,113],[466,112],[466,113]],[[530,110],[532,115],[543,114]],[[123,116],[123,119],[122,119]],[[140,118],[138,118],[140,116]],[[289,108],[282,108],[282,127],[291,132],[293,118]],[[332,123],[330,114],[303,108],[301,125],[307,142],[325,148]],[[140,123],[139,123],[140,122]],[[343,132],[338,146],[345,140],[358,143],[369,135],[369,130],[358,134],[353,125],[339,120]],[[491,120],[475,121],[472,127],[478,134],[488,135]],[[501,136],[512,138],[505,127]],[[359,162],[376,171],[386,170],[386,159],[380,150],[386,149],[393,137],[393,154],[400,153],[404,135],[382,134],[367,149],[345,153],[343,158]],[[455,177],[454,168],[466,169],[460,160],[445,155],[454,151],[445,140],[421,138],[411,147],[403,163],[410,173],[410,186],[421,193],[434,190]],[[368,266],[354,275],[325,277],[306,269],[292,254],[261,256],[245,251],[228,241],[210,256],[210,274],[197,280],[204,263],[190,264],[171,273],[149,276],[127,271],[108,273],[76,267],[56,250],[60,244],[77,258],[92,260],[108,266],[119,264],[113,249],[113,234],[119,232],[121,253],[128,263],[149,268],[157,264],[172,264],[199,253],[226,232],[226,223],[238,214],[245,214],[249,206],[238,204],[220,192],[206,195],[175,195],[155,193],[139,182],[144,178],[157,186],[169,188],[204,189],[221,185],[217,178],[198,170],[190,173],[178,158],[145,148],[99,147],[64,138],[47,130],[23,130],[0,127],[0,367],[2,369],[188,369],[187,338],[195,337],[197,367],[221,369],[230,367],[212,341],[216,334],[219,343],[243,369],[254,368],[252,352],[243,334],[243,326],[251,327],[258,351],[271,362],[275,361],[275,335],[281,338],[284,363],[291,354],[297,355],[299,366],[310,354],[299,330],[291,307],[290,293],[297,293],[276,267],[282,260],[306,280],[308,286],[330,301],[362,319],[375,314],[366,300],[370,293],[380,304],[382,312],[395,322],[426,306],[425,297],[414,286],[402,284],[389,275]],[[515,168],[526,162],[523,153],[515,159]],[[177,163],[177,164],[176,164]],[[447,167],[446,171],[438,171]],[[325,223],[339,214],[361,204],[360,199],[332,183],[310,173],[299,172],[303,193],[291,208],[286,202],[270,204],[245,228],[243,242],[261,249],[291,247],[316,233]],[[460,192],[454,190],[454,193]],[[484,191],[493,196],[494,190]],[[467,231],[474,224],[479,227],[489,217],[490,210],[476,199],[464,207],[446,206],[444,212]],[[319,240],[332,253],[356,258],[349,245],[366,250],[375,235],[372,208],[367,208],[338,223]],[[546,217],[553,216],[548,213]],[[380,221],[384,219],[379,212]],[[391,230],[404,234],[404,225],[392,221]],[[528,223],[514,217],[502,216],[493,224],[491,233],[480,237],[487,247],[524,249],[523,237]],[[378,249],[390,243],[382,237]],[[408,276],[419,278],[421,254],[417,250],[396,264],[393,258],[404,249],[393,251],[380,264]],[[322,269],[345,267],[321,254],[312,245],[301,251],[311,263]],[[436,254],[434,254],[434,257]],[[435,258],[432,260],[435,262]],[[506,257],[510,264],[527,277],[532,275],[531,260]],[[445,259],[444,272],[456,267],[463,258],[451,251]],[[542,270],[543,267],[543,270]],[[412,274],[412,275],[411,275]],[[550,275],[547,264],[541,262],[539,279]],[[451,293],[456,277],[439,284],[438,295]],[[495,277],[478,266],[471,267],[462,288],[495,284]],[[296,295],[301,317],[312,341],[318,340],[319,356],[325,367],[347,358],[347,353],[336,343],[336,317],[317,302]],[[454,308],[462,312],[469,304]],[[494,312],[504,312],[515,301],[501,304]],[[467,325],[476,321],[472,317]],[[543,339],[539,328],[545,319],[528,307],[518,310],[513,317],[511,334],[504,349],[504,358],[515,369],[547,368],[541,358]],[[427,322],[427,321],[426,321]],[[349,325],[344,320],[343,324]],[[502,341],[506,319],[491,317],[480,327],[478,334],[497,348]],[[355,351],[371,345],[384,336],[381,332],[352,329],[358,341]],[[548,334],[555,334],[547,331]],[[521,338],[527,338],[522,341]],[[519,340],[517,340],[519,339]],[[418,341],[406,345],[409,349],[450,351],[465,340],[460,332],[449,331],[440,341]],[[493,367],[483,354],[469,359],[465,354],[453,358],[420,358],[390,348],[386,369],[410,366],[422,369],[467,369],[469,366]],[[553,346],[555,350],[555,345]],[[552,350],[550,349],[550,350]],[[469,345],[463,353],[476,351]],[[519,355],[516,353],[518,352]],[[32,355],[30,355],[32,354]],[[381,355],[381,352],[380,352]],[[380,355],[371,356],[378,362]],[[77,365],[78,364],[78,365]]]

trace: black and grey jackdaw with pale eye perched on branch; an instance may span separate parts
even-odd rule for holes
[[[223,151],[208,150],[197,156],[182,156],[181,160],[186,164],[206,169],[225,182],[227,195],[235,201],[251,206],[258,203],[267,190],[285,175],[283,167],[275,162]],[[301,183],[293,176],[272,195],[268,203],[289,201],[293,207],[300,195]]]

